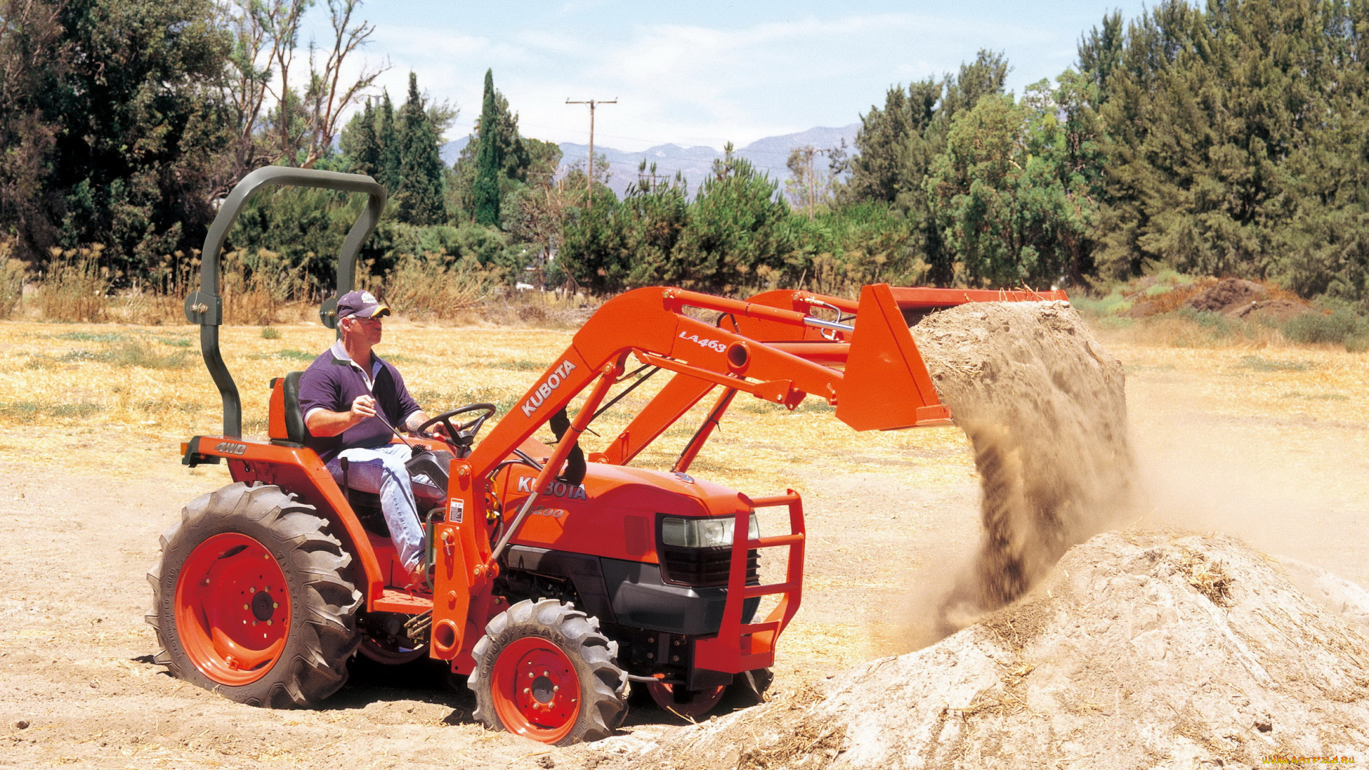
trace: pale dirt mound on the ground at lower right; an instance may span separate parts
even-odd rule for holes
[[[1369,637],[1239,541],[1106,533],[941,643],[632,767],[1232,767],[1369,756]],[[601,767],[605,767],[601,765]]]

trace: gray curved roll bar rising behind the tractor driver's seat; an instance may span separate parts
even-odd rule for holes
[[[233,375],[229,374],[229,367],[223,363],[223,355],[219,352],[219,325],[223,323],[223,297],[219,295],[219,252],[223,251],[229,229],[233,227],[233,222],[242,212],[248,199],[264,185],[360,192],[368,197],[366,210],[352,225],[346,240],[342,241],[342,251],[338,252],[337,293],[324,299],[319,307],[319,318],[329,329],[337,329],[337,299],[352,290],[356,280],[356,255],[381,221],[387,197],[379,182],[361,174],[267,166],[244,177],[223,200],[218,216],[209,225],[209,234],[204,238],[200,290],[190,292],[190,296],[185,297],[185,316],[190,323],[200,325],[200,353],[204,355],[204,366],[209,369],[214,384],[219,386],[219,396],[223,397],[223,434],[233,438],[242,437],[242,400],[238,397],[238,386],[233,382]]]

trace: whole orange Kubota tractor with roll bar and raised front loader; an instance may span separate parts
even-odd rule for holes
[[[162,645],[156,660],[175,675],[260,706],[330,696],[356,652],[448,662],[467,677],[476,719],[556,744],[611,734],[630,682],[690,717],[728,686],[758,697],[799,606],[804,510],[794,490],[750,497],[689,474],[732,399],[790,410],[823,399],[856,430],[949,425],[908,319],[965,301],[1064,299],[887,285],[865,286],[858,303],[789,290],[747,301],[671,288],[620,295],[485,438],[476,434],[491,404],[437,415],[449,438],[409,440],[412,473],[433,482],[415,485],[428,581],[412,585],[375,496],[340,485],[305,448],[300,373],[271,381],[270,436],[242,436],[219,353],[218,258],[263,185],[368,196],[340,255],[337,296],[352,288],[357,249],[386,199],[370,177],[257,170],[220,207],[201,288],[186,299],[223,399],[223,434],[190,438],[183,463],[226,462],[234,482],[193,500],[162,537],[148,622]],[[320,310],[329,327],[335,306],[329,299]],[[705,312],[716,321],[695,318]],[[669,373],[664,386],[586,458],[579,441],[591,421],[660,371]],[[630,464],[711,392],[671,469]],[[545,425],[552,443],[534,438]],[[756,511],[771,507],[787,511],[789,532],[758,532]],[[764,551],[787,556],[778,582],[758,580]],[[771,607],[757,618],[764,597]]]

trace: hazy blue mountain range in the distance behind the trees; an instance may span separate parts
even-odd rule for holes
[[[838,147],[842,140],[846,140],[847,147],[854,147],[857,130],[860,130],[860,123],[835,129],[820,126],[795,134],[758,138],[738,149],[737,155],[750,160],[758,171],[767,173],[772,179],[783,184],[790,175],[786,162],[791,149],[804,145],[826,149],[828,147]],[[442,160],[449,166],[455,163],[461,153],[461,148],[468,141],[471,141],[471,137],[465,136],[442,145]],[[589,156],[589,145],[567,141],[561,142],[560,147],[564,153],[563,163],[583,162]],[[608,185],[619,197],[627,192],[628,185],[637,181],[637,167],[642,160],[646,160],[648,166],[656,163],[656,173],[660,175],[674,177],[676,171],[680,171],[684,174],[686,181],[689,181],[689,188],[693,193],[698,189],[704,177],[708,175],[713,160],[723,156],[720,149],[713,149],[712,147],[680,147],[678,144],[661,144],[639,152],[626,152],[598,145],[594,148],[594,152],[608,158],[609,170],[612,171]],[[817,162],[823,160],[819,159]]]

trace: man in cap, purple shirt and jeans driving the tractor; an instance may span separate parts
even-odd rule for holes
[[[348,292],[338,300],[341,338],[300,377],[300,410],[308,429],[305,445],[318,452],[338,485],[346,460],[346,486],[379,495],[394,551],[413,582],[422,584],[423,525],[404,466],[412,451],[390,444],[390,437],[394,429],[416,432],[428,415],[394,364],[372,352],[386,315],[390,308],[371,292]],[[441,423],[434,427],[446,433]]]

